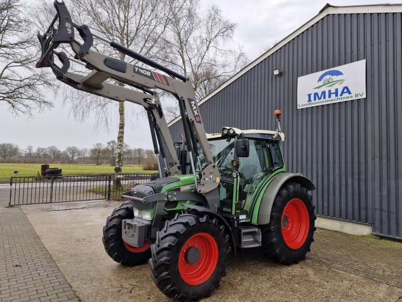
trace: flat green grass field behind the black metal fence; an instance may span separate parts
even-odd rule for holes
[[[85,164],[49,164],[50,168],[63,170],[63,175],[96,175],[113,174],[114,167],[110,165],[85,165]],[[3,164],[0,163],[0,183],[8,183],[14,171],[19,171],[17,176],[37,176],[41,171],[40,164]],[[142,166],[124,165],[123,173],[154,173],[157,171],[144,171]]]

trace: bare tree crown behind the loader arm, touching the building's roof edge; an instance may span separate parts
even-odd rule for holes
[[[202,14],[199,0],[174,2],[165,37],[165,63],[190,78],[195,96],[203,99],[246,64],[242,48],[227,47],[236,25],[225,19],[218,6]],[[176,103],[165,106],[169,119],[179,115]]]

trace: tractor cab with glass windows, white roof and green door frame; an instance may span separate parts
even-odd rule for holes
[[[249,219],[257,192],[275,171],[283,169],[279,141],[285,136],[267,130],[240,130],[223,127],[218,134],[207,134],[214,162],[221,174],[220,212]],[[275,138],[274,138],[275,137]],[[205,165],[199,148],[200,166]]]

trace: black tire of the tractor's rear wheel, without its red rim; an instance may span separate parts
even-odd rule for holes
[[[307,207],[309,217],[309,221],[306,223],[309,225],[307,237],[304,243],[299,243],[303,243],[303,245],[298,248],[289,248],[282,235],[282,224],[286,223],[286,221],[282,221],[282,214],[285,206],[293,199],[303,201]],[[314,208],[312,197],[304,186],[292,182],[284,184],[273,202],[269,223],[260,225],[262,252],[269,259],[287,265],[298,263],[300,260],[305,259],[307,252],[310,252],[311,243],[314,242],[313,237],[316,231]]]

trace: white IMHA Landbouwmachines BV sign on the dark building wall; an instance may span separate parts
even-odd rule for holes
[[[297,109],[366,97],[366,60],[297,79]]]

